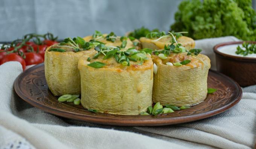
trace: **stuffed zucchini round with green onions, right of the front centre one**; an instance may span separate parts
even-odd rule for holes
[[[167,56],[163,53],[164,50],[162,53],[157,51],[158,56],[153,59],[153,102],[182,106],[204,101],[207,96],[210,59],[198,54],[198,49],[170,52]]]

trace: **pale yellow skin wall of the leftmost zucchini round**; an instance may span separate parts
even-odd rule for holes
[[[55,96],[80,94],[81,81],[77,68],[79,58],[84,54],[96,53],[90,49],[80,52],[55,52],[46,49],[44,72],[49,89]],[[94,52],[95,51],[95,52]]]

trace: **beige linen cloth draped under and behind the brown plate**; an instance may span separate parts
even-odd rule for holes
[[[196,44],[214,61],[213,45],[227,41],[238,39],[203,39]],[[256,86],[244,88],[234,107],[207,119],[124,127],[66,119],[32,107],[14,92],[21,72],[18,62],[0,66],[0,149],[250,149],[256,143]]]

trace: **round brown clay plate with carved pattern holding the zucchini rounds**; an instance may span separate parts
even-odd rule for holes
[[[218,90],[208,94],[204,102],[185,110],[155,117],[92,113],[81,105],[58,102],[58,97],[53,96],[48,89],[43,63],[24,71],[14,83],[14,89],[21,99],[46,112],[91,123],[120,126],[159,126],[204,119],[231,108],[242,96],[241,87],[235,81],[216,71],[209,71],[208,87]]]

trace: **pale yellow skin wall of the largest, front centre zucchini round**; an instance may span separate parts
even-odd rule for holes
[[[152,105],[153,63],[146,69],[92,68],[79,60],[81,104],[101,113],[138,115]],[[133,67],[133,66],[130,66]]]

